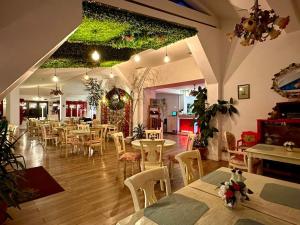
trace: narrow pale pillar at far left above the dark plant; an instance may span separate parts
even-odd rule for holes
[[[19,87],[12,90],[6,96],[6,117],[9,123],[20,125],[20,90]]]

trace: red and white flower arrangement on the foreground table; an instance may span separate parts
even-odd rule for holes
[[[242,171],[233,169],[230,180],[221,183],[218,194],[227,207],[235,208],[240,201],[249,201],[247,194],[252,194],[253,192],[246,187],[244,180]]]

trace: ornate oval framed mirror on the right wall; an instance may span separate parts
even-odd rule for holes
[[[286,98],[300,98],[300,64],[292,63],[274,75],[271,89]]]

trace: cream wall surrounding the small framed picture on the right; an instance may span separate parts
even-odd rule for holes
[[[266,119],[277,102],[288,101],[270,88],[274,74],[293,62],[300,62],[300,31],[257,44],[224,83],[225,99],[237,99],[237,85],[250,84],[250,99],[238,101],[240,116],[224,123],[224,129],[236,137],[256,131],[257,119]]]

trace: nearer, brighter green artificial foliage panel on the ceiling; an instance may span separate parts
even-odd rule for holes
[[[69,42],[101,44],[113,48],[158,49],[194,36],[195,28],[84,1],[83,23]]]

